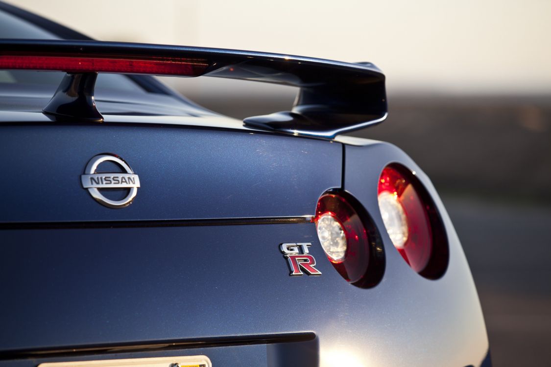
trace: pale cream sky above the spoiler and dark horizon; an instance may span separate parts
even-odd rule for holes
[[[551,94],[551,0],[8,1],[100,40],[370,61],[390,94]]]

